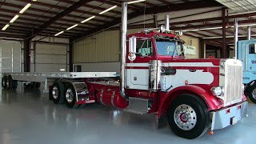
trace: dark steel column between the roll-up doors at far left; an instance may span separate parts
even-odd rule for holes
[[[30,72],[30,40],[24,40],[24,72]]]

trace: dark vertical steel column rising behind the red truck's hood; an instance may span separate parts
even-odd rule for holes
[[[227,58],[227,50],[226,50],[226,8],[222,8],[222,58]]]

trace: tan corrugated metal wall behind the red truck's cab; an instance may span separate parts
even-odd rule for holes
[[[128,30],[128,34],[134,34],[142,29]],[[199,58],[198,38],[182,36],[187,45],[196,47],[195,55],[186,55],[187,58]],[[90,38],[82,39],[74,43],[74,64],[93,62],[119,62],[120,31],[110,30],[95,34]]]

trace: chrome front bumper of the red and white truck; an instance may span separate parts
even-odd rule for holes
[[[246,117],[247,109],[248,102],[242,102],[222,110],[210,112],[210,130],[218,130],[236,124]]]

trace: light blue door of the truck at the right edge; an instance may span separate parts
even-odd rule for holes
[[[246,65],[246,71],[256,71],[256,50],[255,50],[255,43],[248,41],[245,44],[245,65]]]

